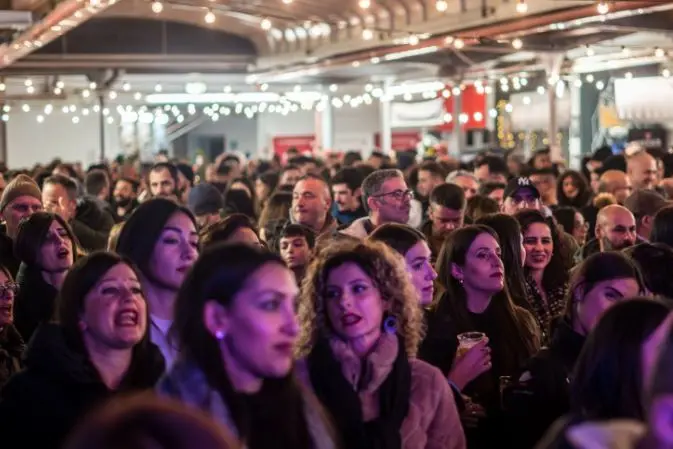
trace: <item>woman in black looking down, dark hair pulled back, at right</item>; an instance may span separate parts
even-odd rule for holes
[[[565,314],[555,323],[549,346],[512,376],[504,395],[512,447],[533,447],[554,420],[570,410],[568,379],[587,335],[606,310],[644,291],[638,267],[618,252],[596,253],[575,269]]]

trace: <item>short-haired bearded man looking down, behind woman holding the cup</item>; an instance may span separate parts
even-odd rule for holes
[[[446,237],[465,223],[465,193],[456,184],[440,184],[430,193],[428,221],[421,231],[428,239],[433,260]]]

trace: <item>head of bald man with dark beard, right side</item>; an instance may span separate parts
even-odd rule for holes
[[[598,212],[596,240],[600,251],[621,251],[636,243],[636,218],[624,206],[612,204]]]

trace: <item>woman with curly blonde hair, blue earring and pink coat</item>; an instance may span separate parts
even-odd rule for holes
[[[325,248],[304,280],[299,316],[306,379],[348,449],[462,449],[442,373],[416,358],[418,294],[381,242]]]

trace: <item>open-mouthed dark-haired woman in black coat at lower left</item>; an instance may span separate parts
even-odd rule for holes
[[[61,447],[100,403],[151,389],[164,370],[149,340],[139,273],[128,259],[97,252],[78,260],[57,304],[56,323],[37,329],[26,368],[0,395],[3,449]]]

